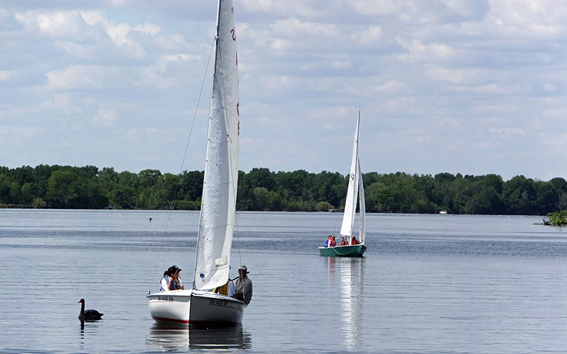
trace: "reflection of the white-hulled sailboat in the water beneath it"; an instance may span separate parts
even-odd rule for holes
[[[154,324],[147,342],[159,350],[190,349],[249,349],[252,337],[242,324],[230,327],[208,328],[175,324]]]

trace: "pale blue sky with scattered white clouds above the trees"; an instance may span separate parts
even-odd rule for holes
[[[566,1],[234,2],[240,170],[567,178]],[[202,171],[216,11],[0,0],[0,166]]]

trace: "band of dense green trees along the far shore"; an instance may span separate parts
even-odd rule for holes
[[[567,181],[515,176],[364,173],[366,212],[544,215],[567,224]],[[344,208],[348,175],[304,170],[239,172],[237,210],[327,212]],[[178,175],[112,167],[0,166],[0,207],[50,209],[199,210],[203,171]],[[563,211],[561,211],[563,210]],[[545,222],[545,220],[544,220]]]

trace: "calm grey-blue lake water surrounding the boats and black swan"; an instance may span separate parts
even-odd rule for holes
[[[0,351],[567,352],[566,228],[369,215],[364,258],[318,256],[341,219],[241,213],[232,268],[254,282],[242,326],[169,329],[145,295],[172,264],[191,284],[196,212],[0,210]],[[81,326],[81,298],[102,321]]]

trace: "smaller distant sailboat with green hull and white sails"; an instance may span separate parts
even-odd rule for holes
[[[354,147],[352,149],[349,188],[347,190],[347,201],[344,205],[344,216],[342,217],[341,232],[339,234],[339,236],[344,236],[344,238],[347,239],[348,245],[319,247],[321,256],[361,257],[364,252],[366,252],[366,246],[364,246],[366,207],[364,202],[362,172],[360,170],[359,127],[360,111],[357,119],[357,129],[354,131]],[[356,238],[356,236],[353,235],[352,229],[354,228],[354,216],[357,212],[357,200],[360,200],[359,244],[354,244],[353,237]]]

